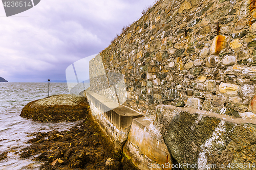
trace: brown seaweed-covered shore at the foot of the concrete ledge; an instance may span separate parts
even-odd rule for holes
[[[33,101],[25,106],[25,110],[28,107],[31,109],[31,105],[35,102]],[[77,124],[68,131],[32,134],[36,137],[28,141],[31,145],[22,150],[20,157],[28,158],[34,156],[33,160],[44,162],[40,169],[45,170],[138,169],[121,151],[115,150],[114,143],[102,132],[99,125],[94,122],[88,103],[84,103],[82,107],[86,108],[86,110],[83,112],[84,117],[80,124]],[[40,108],[42,107],[40,106]],[[22,114],[25,113],[25,110],[23,110]],[[31,118],[31,114],[23,114],[22,116]],[[45,122],[46,119],[49,121],[49,115],[37,114],[37,116],[33,117],[36,117],[41,122]],[[65,116],[62,116],[62,119],[63,117]],[[59,120],[59,118],[59,116],[55,117],[51,121],[56,122],[55,120]],[[70,121],[70,119],[67,120]]]

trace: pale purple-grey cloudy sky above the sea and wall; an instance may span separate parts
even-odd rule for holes
[[[0,4],[0,77],[9,82],[66,80],[72,63],[108,47],[155,0],[41,0],[6,17]]]

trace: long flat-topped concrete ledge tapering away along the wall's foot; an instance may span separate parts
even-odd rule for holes
[[[143,114],[92,91],[87,91],[86,95],[95,120],[115,142],[116,149],[121,149],[127,140],[133,119],[141,117]]]

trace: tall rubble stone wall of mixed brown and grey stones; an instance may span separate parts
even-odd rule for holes
[[[255,117],[255,8],[255,0],[159,1],[100,53],[106,74],[123,75],[124,105]]]

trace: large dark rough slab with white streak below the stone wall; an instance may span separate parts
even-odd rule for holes
[[[255,118],[230,118],[191,108],[157,106],[156,126],[170,154],[180,164],[197,165],[183,169],[229,169],[228,165],[236,167],[236,163],[241,166],[235,169],[255,169],[255,124]],[[225,167],[220,168],[220,164]]]

